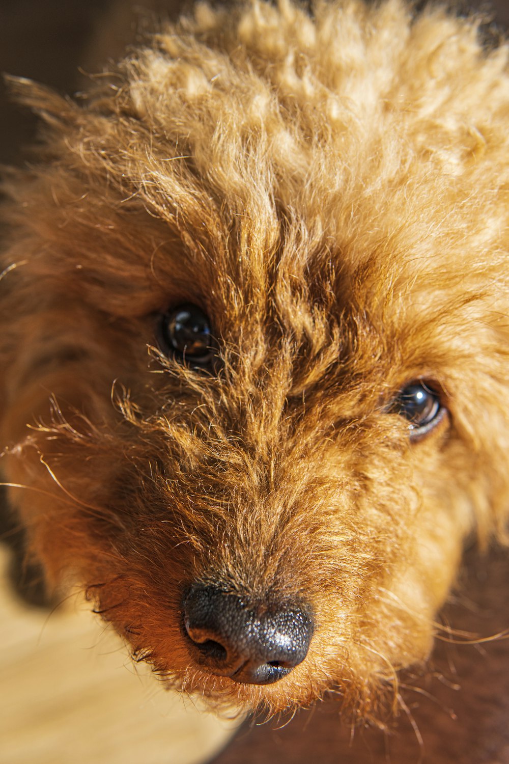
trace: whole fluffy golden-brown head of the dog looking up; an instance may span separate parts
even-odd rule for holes
[[[379,713],[501,528],[504,57],[398,2],[201,8],[81,106],[18,85],[5,473],[186,690]]]

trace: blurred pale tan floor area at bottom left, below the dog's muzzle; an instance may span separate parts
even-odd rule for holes
[[[48,614],[18,602],[7,562],[0,546],[2,764],[198,764],[224,746],[238,723],[134,669],[89,605]]]

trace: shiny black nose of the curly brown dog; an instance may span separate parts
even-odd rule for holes
[[[185,633],[199,665],[242,684],[269,685],[308,654],[311,610],[292,604],[264,612],[237,594],[197,584],[184,597]]]

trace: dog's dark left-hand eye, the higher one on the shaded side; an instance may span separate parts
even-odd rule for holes
[[[201,308],[184,303],[163,314],[160,334],[163,351],[183,362],[205,366],[214,358],[211,322]]]

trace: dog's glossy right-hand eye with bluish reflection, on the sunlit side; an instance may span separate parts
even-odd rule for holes
[[[403,387],[391,403],[390,411],[408,419],[412,440],[430,432],[446,413],[439,394],[423,380],[415,380]]]

